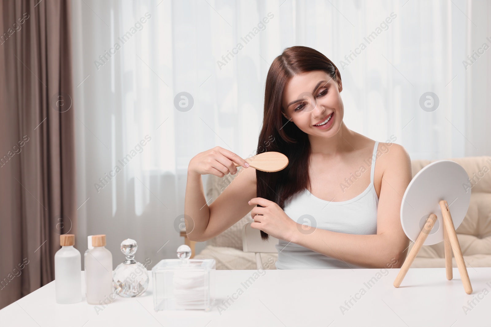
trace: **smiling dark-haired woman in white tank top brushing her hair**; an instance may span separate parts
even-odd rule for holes
[[[398,144],[350,130],[342,90],[338,69],[319,51],[291,47],[276,57],[257,153],[284,153],[289,164],[265,173],[220,147],[198,153],[188,168],[188,237],[213,238],[252,209],[251,227],[279,239],[277,269],[401,267],[409,239],[399,212],[410,158]],[[235,175],[234,162],[244,169],[208,206],[201,175]]]

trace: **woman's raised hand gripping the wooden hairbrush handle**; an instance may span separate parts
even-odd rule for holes
[[[234,162],[244,168],[249,167],[246,160],[232,151],[215,147],[213,149],[196,154],[188,166],[188,173],[194,175],[212,174],[223,177],[227,174],[237,174],[237,167]]]

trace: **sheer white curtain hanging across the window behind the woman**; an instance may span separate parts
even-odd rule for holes
[[[491,44],[489,16],[462,0],[74,0],[79,240],[107,234],[115,263],[125,238],[140,260],[174,257],[189,160],[254,153],[269,66],[294,45],[337,65],[349,128],[413,159],[489,154],[490,54],[463,64]]]

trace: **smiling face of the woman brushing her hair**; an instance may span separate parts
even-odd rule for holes
[[[285,86],[283,116],[307,134],[333,136],[338,132],[344,116],[339,94],[343,86],[341,81],[339,84],[324,71],[294,75]]]

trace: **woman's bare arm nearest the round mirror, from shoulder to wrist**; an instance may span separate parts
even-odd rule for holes
[[[383,171],[376,235],[337,233],[321,228],[303,234],[293,228],[291,241],[348,264],[386,268],[392,263],[392,267],[400,268],[409,247],[409,239],[401,226],[400,211],[402,196],[412,178],[411,161],[402,146],[393,143],[389,149],[376,163]],[[397,260],[396,264],[393,259]]]

